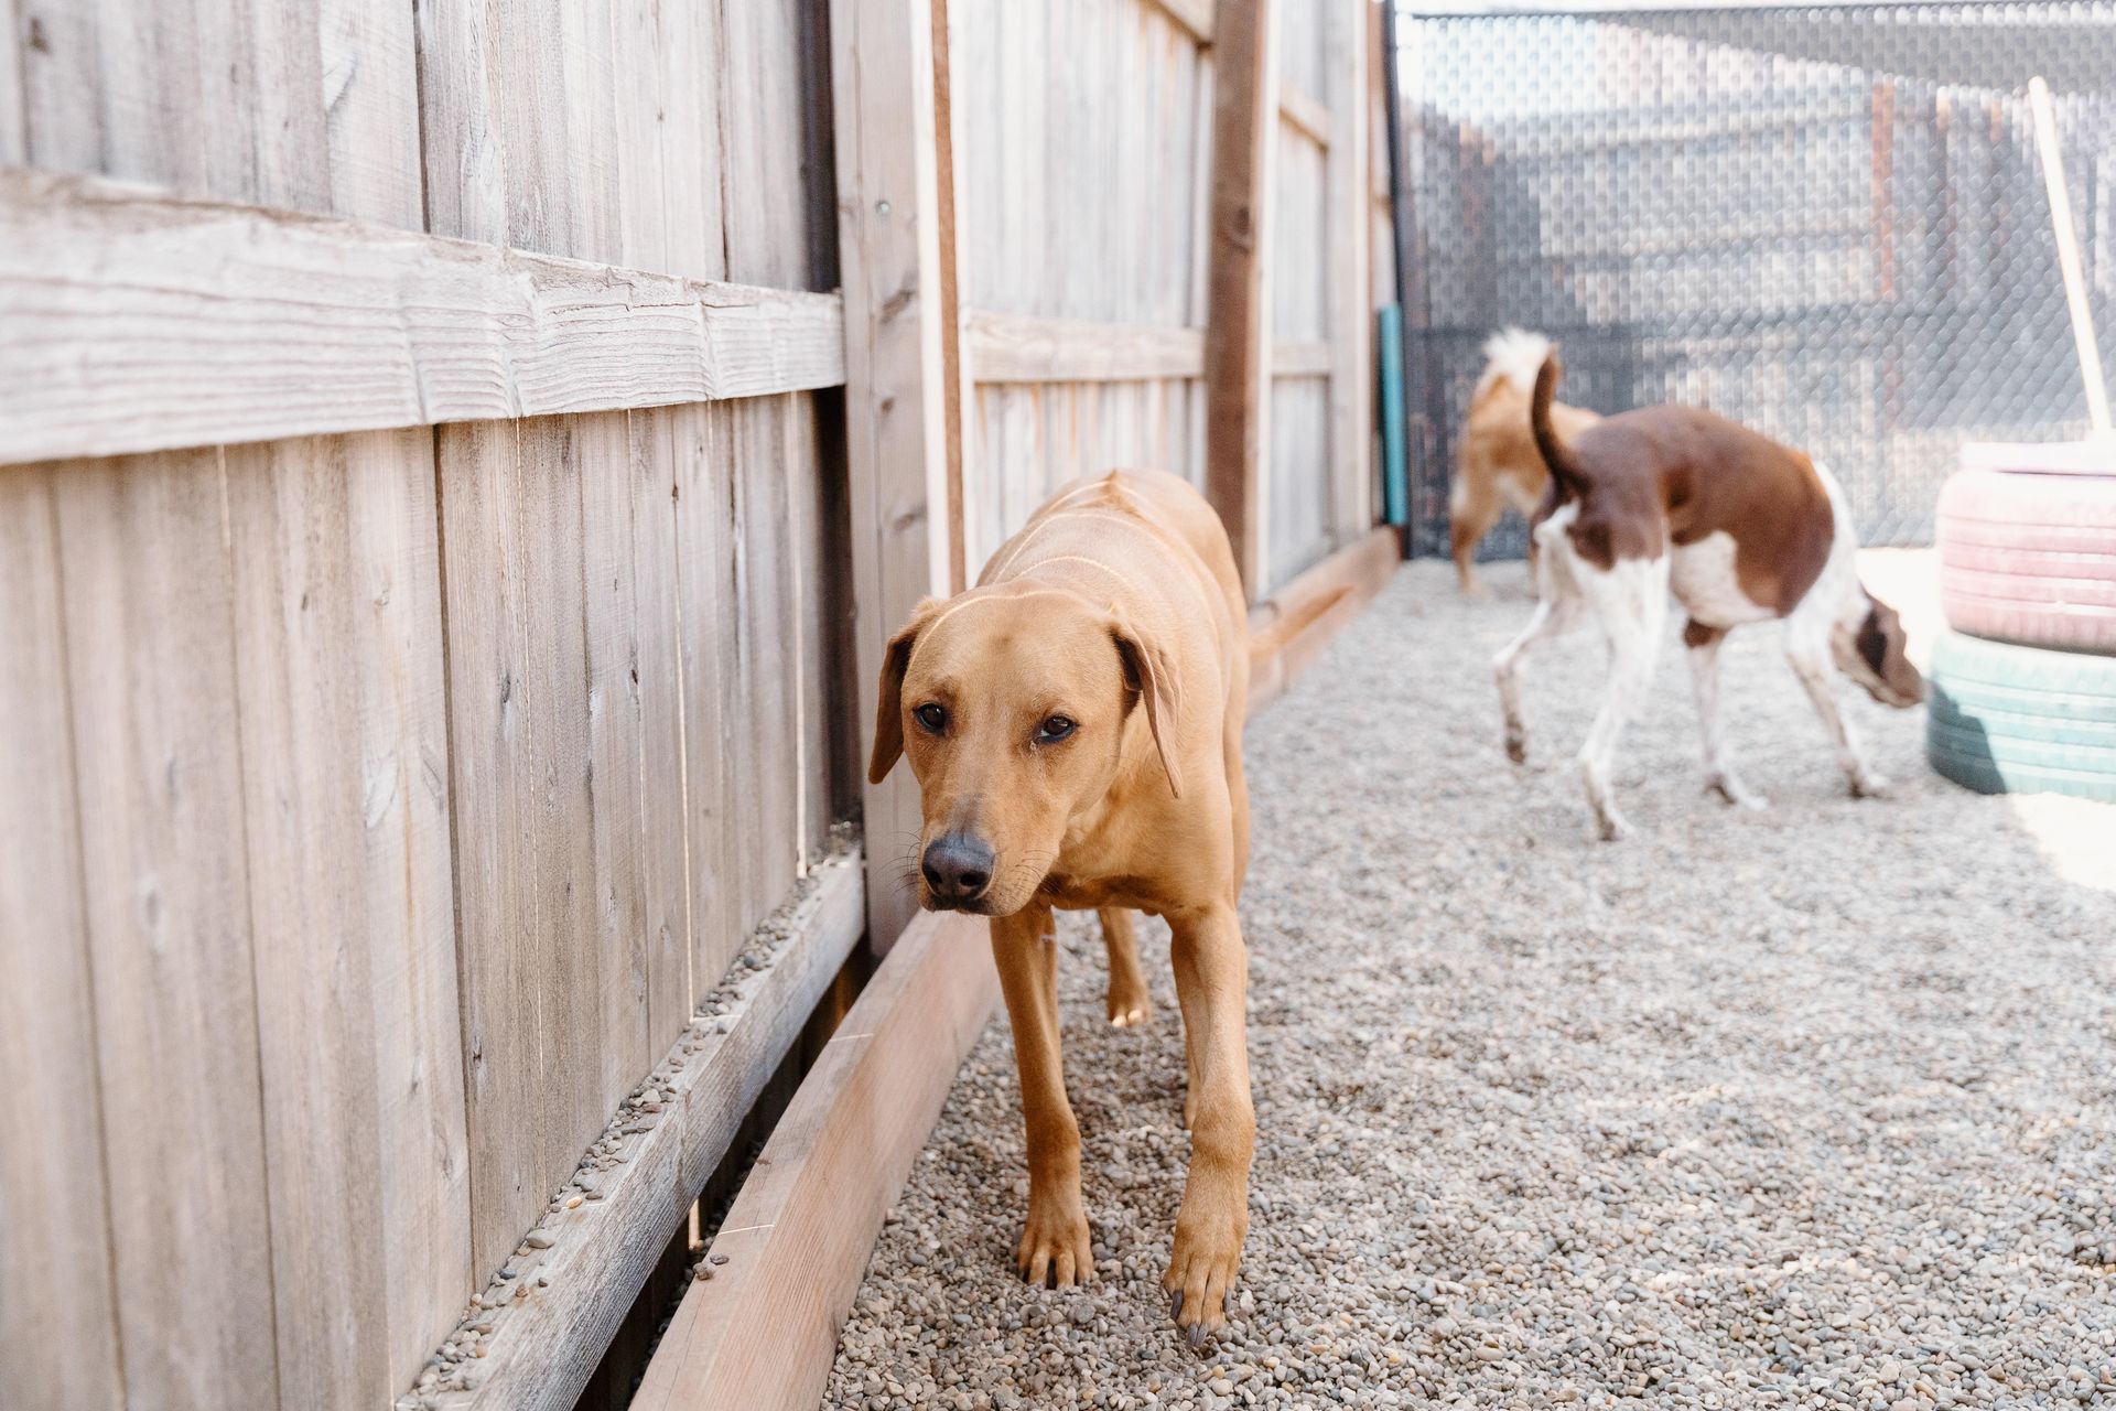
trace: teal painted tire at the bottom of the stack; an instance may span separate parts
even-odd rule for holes
[[[1947,778],[2116,804],[2116,656],[1945,633],[1928,685],[1926,757]]]

